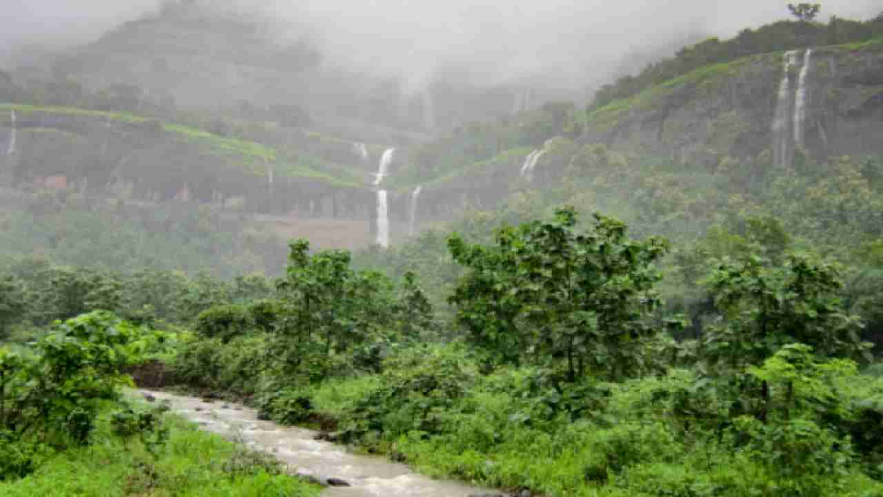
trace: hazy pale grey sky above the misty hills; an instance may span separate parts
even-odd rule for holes
[[[624,53],[678,34],[729,36],[787,18],[787,1],[740,0],[215,0],[298,21],[336,65],[404,75],[415,86],[438,67],[477,80],[554,73],[562,84],[604,72]],[[153,11],[157,0],[2,0],[0,43],[84,42]],[[874,7],[876,5],[876,7]],[[879,0],[826,0],[831,14],[866,19]],[[570,85],[568,85],[570,86]]]

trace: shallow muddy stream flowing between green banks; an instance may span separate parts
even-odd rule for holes
[[[357,455],[345,447],[313,440],[318,432],[261,421],[255,409],[227,402],[202,401],[195,397],[140,390],[201,429],[268,454],[288,465],[292,473],[320,481],[339,478],[351,486],[328,486],[325,497],[491,497],[501,493],[418,475],[404,464],[372,455]]]

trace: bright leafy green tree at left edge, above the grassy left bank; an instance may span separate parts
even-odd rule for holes
[[[29,351],[0,348],[0,432],[14,440],[87,442],[104,402],[131,385],[123,369],[147,345],[142,330],[96,311],[57,321]]]

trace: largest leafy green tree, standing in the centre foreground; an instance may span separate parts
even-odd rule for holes
[[[586,367],[611,377],[641,370],[659,304],[654,263],[668,244],[630,240],[622,222],[598,214],[591,231],[576,225],[576,211],[562,208],[551,221],[503,228],[493,246],[449,239],[469,270],[449,299],[457,323],[494,362],[562,358],[570,381]]]

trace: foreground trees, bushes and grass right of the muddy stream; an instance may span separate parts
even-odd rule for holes
[[[449,238],[464,265],[433,317],[342,252],[291,244],[269,300],[200,314],[177,382],[439,476],[549,495],[870,495],[883,393],[841,271],[751,219],[708,262],[708,325],[660,306],[664,241],[571,209]],[[729,235],[733,239],[734,235]],[[407,325],[405,325],[407,324]],[[418,325],[414,328],[414,325]],[[679,340],[675,340],[677,337]],[[446,342],[446,343],[442,343]],[[270,352],[272,351],[272,353]],[[854,361],[858,361],[854,362]]]

